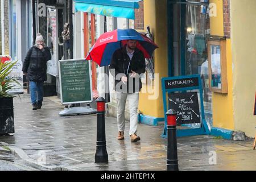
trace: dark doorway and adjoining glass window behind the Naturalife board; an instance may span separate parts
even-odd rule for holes
[[[209,90],[207,55],[207,38],[210,35],[208,5],[208,1],[200,0],[168,1],[168,76],[201,75],[205,119],[211,127],[212,92]]]

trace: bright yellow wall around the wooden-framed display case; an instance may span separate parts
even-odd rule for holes
[[[224,36],[223,23],[223,1],[211,0],[217,7],[217,16],[210,18],[210,34]],[[213,127],[234,130],[233,118],[233,80],[232,80],[232,51],[231,40],[226,40],[226,61],[227,61],[227,79],[228,94],[213,93]]]

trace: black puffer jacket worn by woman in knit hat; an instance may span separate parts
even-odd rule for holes
[[[42,50],[36,46],[31,47],[27,52],[22,67],[23,73],[27,73],[27,80],[35,82],[46,81],[46,63],[51,58],[51,52],[48,47]]]

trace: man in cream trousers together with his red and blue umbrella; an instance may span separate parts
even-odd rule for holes
[[[156,48],[158,46],[151,39],[134,29],[116,29],[102,34],[86,56],[86,60],[92,60],[100,67],[110,64],[117,93],[118,140],[124,139],[126,100],[130,108],[131,141],[141,139],[137,136],[137,110],[142,88],[139,75],[145,72],[145,58],[150,59]]]

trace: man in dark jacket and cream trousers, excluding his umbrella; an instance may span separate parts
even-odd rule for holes
[[[131,142],[141,140],[137,136],[139,91],[142,82],[139,75],[145,72],[143,52],[137,48],[137,40],[127,40],[127,44],[112,56],[110,73],[115,78],[114,90],[117,94],[118,140],[123,140],[125,130],[125,104],[129,101]],[[114,70],[113,70],[114,69]]]

